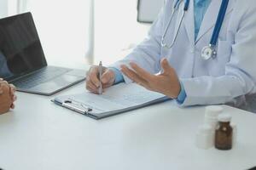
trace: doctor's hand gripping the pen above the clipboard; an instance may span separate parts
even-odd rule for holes
[[[103,66],[102,69],[102,88],[103,91],[113,85],[115,80],[114,72]],[[93,65],[86,73],[86,89],[91,93],[99,94],[100,80],[99,80],[99,66]]]

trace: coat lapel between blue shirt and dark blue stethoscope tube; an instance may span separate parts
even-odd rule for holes
[[[210,31],[212,27],[215,26],[221,3],[222,0],[212,0],[211,4],[207,8],[207,13],[205,14],[204,19],[202,20],[201,28],[195,43],[198,42],[201,39],[201,37],[203,37],[207,33],[207,31]],[[230,14],[230,12],[233,9],[233,5],[231,3],[232,0],[230,0],[229,6],[226,11],[226,15]]]

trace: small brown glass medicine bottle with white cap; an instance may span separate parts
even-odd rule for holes
[[[233,129],[230,126],[231,116],[220,114],[218,116],[218,127],[215,131],[215,148],[218,150],[232,149]]]

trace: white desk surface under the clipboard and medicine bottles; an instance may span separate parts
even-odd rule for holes
[[[59,94],[84,91],[84,83]],[[15,111],[0,116],[0,167],[6,170],[207,169],[241,170],[256,165],[256,115],[224,106],[238,125],[230,151],[200,150],[195,133],[204,107],[174,102],[100,121],[18,93]]]

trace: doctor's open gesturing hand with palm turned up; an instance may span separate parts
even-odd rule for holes
[[[121,65],[121,71],[132,81],[147,88],[148,90],[165,94],[166,96],[176,99],[180,93],[181,86],[176,71],[168,64],[167,59],[161,60],[163,72],[153,75],[143,70],[135,63],[131,63],[131,70],[125,65]]]

